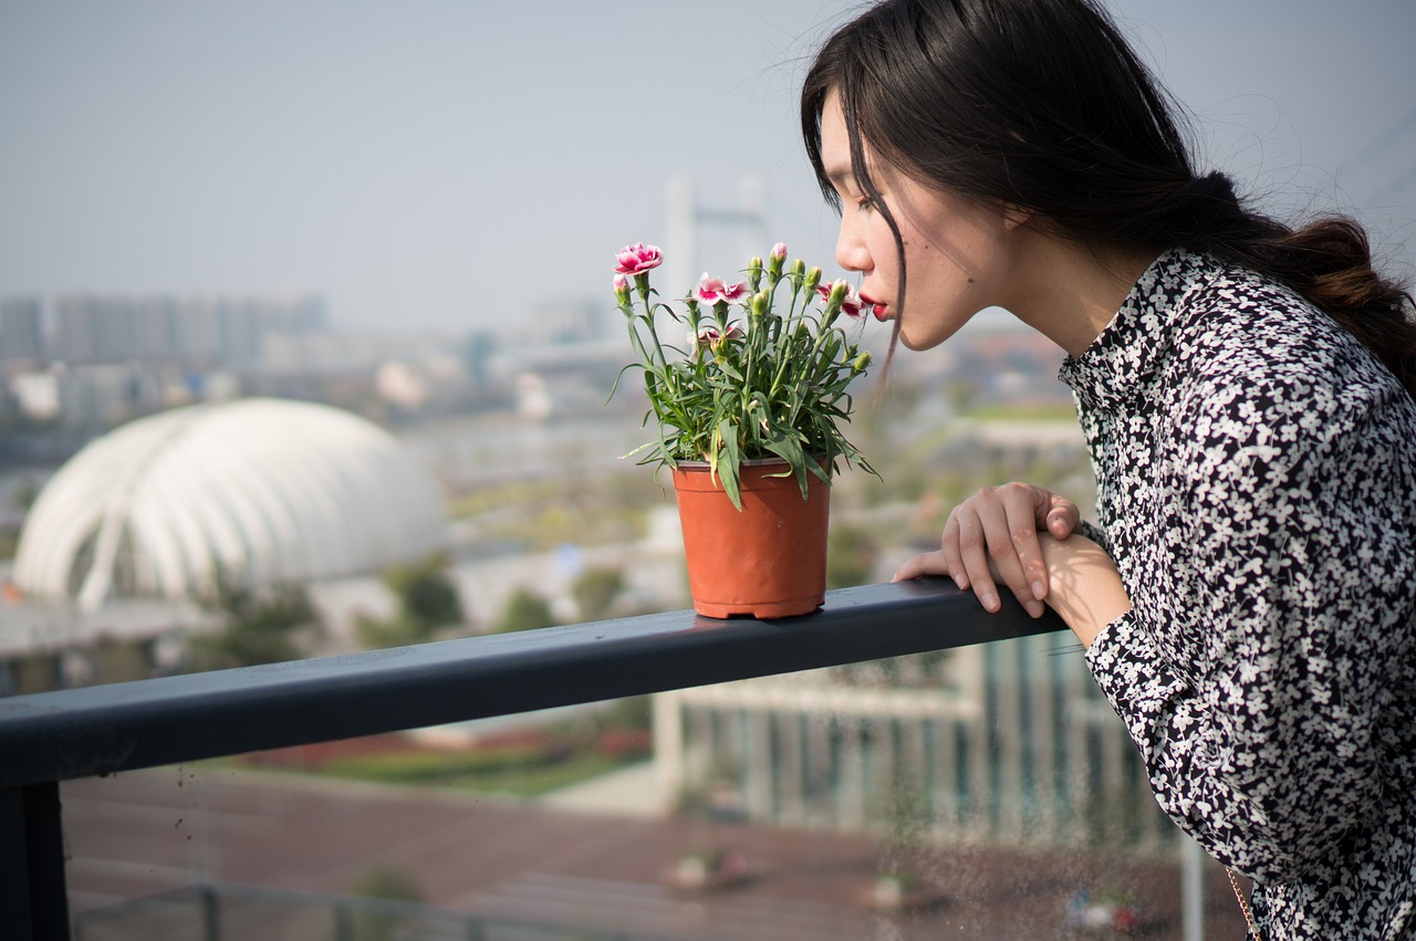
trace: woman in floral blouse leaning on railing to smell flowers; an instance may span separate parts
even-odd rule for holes
[[[1052,606],[1264,937],[1416,937],[1416,327],[1365,233],[1197,174],[1089,0],[886,0],[801,116],[893,340],[1007,308],[1069,354],[1096,467],[1097,525],[990,488],[896,579]]]

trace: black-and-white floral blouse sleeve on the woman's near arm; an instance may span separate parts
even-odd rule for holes
[[[1311,869],[1381,798],[1381,715],[1416,647],[1395,406],[1198,396],[1164,526],[1171,608],[1127,613],[1086,654],[1165,812],[1263,884]],[[1187,630],[1198,662],[1158,642]]]

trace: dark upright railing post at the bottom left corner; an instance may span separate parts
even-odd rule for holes
[[[0,788],[0,911],[10,937],[69,940],[58,781]]]

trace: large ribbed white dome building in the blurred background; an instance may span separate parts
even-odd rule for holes
[[[218,567],[261,587],[445,541],[436,484],[387,432],[324,405],[242,399],[139,419],[75,454],[30,511],[14,582],[96,610],[205,594]]]

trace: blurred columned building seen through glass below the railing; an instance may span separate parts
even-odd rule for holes
[[[1178,831],[1069,638],[658,693],[664,792],[799,829],[1171,852]]]

